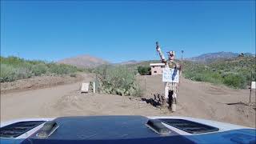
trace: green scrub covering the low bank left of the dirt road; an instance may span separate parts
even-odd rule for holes
[[[41,75],[75,76],[75,72],[82,71],[76,66],[56,64],[54,62],[30,61],[18,57],[1,57],[1,82],[13,82],[18,79],[31,78]]]

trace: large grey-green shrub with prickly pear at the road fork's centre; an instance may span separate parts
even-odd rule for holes
[[[126,66],[100,66],[95,70],[98,90],[103,94],[141,96],[134,71]]]

